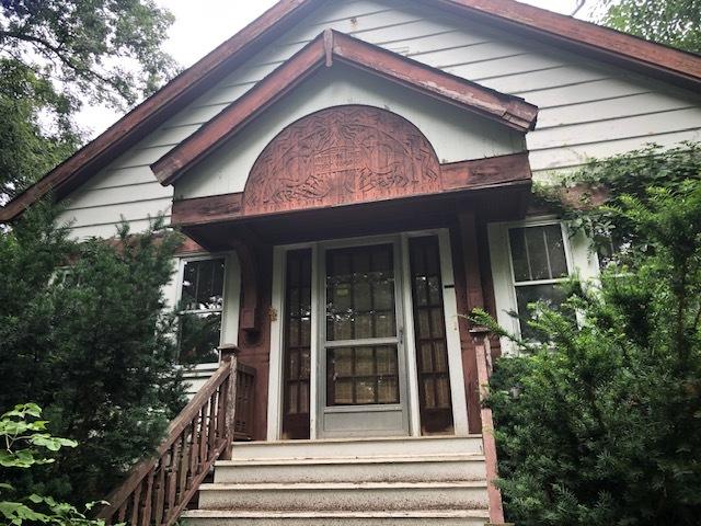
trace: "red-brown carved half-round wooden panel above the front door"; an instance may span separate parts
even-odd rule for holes
[[[265,147],[249,174],[243,215],[440,190],[438,159],[416,126],[377,107],[335,106],[302,117]]]

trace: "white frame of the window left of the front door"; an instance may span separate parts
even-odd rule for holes
[[[235,258],[235,254],[231,253],[231,252],[202,252],[202,253],[197,253],[197,254],[188,254],[186,256],[182,256],[179,258],[177,261],[177,281],[176,281],[176,290],[175,290],[175,304],[174,304],[174,311],[176,313],[176,316],[179,317],[179,324],[177,324],[177,345],[179,345],[179,361],[180,361],[180,316],[184,315],[184,313],[193,313],[193,315],[200,315],[200,313],[207,313],[207,312],[220,312],[221,315],[221,323],[220,323],[220,329],[219,329],[219,345],[222,345],[226,342],[226,336],[225,333],[228,332],[226,330],[226,324],[227,324],[227,320],[230,318],[229,315],[231,315],[230,312],[228,312],[227,309],[227,305],[230,300],[230,294],[232,291],[235,290],[230,290],[231,288],[235,287],[239,288],[238,285],[235,283],[231,283],[232,281],[235,282],[234,276],[232,276],[232,273],[235,272],[238,270],[238,265],[234,264],[233,262],[233,258]],[[192,262],[196,262],[196,261],[208,261],[208,260],[218,260],[218,259],[223,259],[223,281],[221,284],[221,309],[218,310],[211,310],[211,309],[180,309],[180,304],[183,299],[183,281],[185,278],[185,265],[187,265],[187,263],[192,263]],[[237,312],[234,312],[234,315],[237,315],[238,318],[238,310],[239,309],[234,309]],[[237,320],[238,321],[238,320]],[[238,322],[235,324],[235,332],[238,332]],[[217,362],[206,362],[206,363],[202,363],[202,364],[180,364],[179,365],[182,367],[185,367],[192,371],[200,371],[200,370],[216,370],[217,368],[219,368],[219,365],[221,363],[221,354],[219,353],[219,357],[217,358]]]

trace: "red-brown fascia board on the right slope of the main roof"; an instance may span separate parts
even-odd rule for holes
[[[687,88],[698,87],[701,80],[698,55],[535,5],[513,0],[432,0],[432,3],[457,14],[472,14],[496,26],[522,30],[550,43],[554,39],[574,52],[589,50],[617,64],[628,62],[667,80],[681,81]]]

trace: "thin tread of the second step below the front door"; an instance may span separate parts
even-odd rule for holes
[[[276,466],[280,464],[382,464],[382,462],[422,462],[422,461],[481,461],[484,455],[479,453],[423,454],[423,455],[355,455],[355,456],[304,456],[304,457],[256,457],[219,460],[216,466]]]

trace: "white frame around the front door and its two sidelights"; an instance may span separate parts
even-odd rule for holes
[[[320,258],[324,248],[353,247],[364,244],[380,244],[399,240],[399,270],[397,284],[402,290],[402,301],[398,305],[398,311],[403,317],[404,327],[404,359],[405,359],[405,386],[409,411],[409,436],[421,436],[421,415],[418,407],[418,376],[416,369],[416,345],[414,339],[413,301],[411,288],[411,273],[409,262],[409,240],[411,238],[437,236],[440,252],[440,274],[443,281],[443,300],[446,322],[446,343],[448,346],[448,367],[450,376],[450,398],[452,402],[452,418],[456,436],[467,436],[468,405],[464,391],[464,376],[462,370],[462,351],[460,345],[460,332],[458,329],[458,305],[455,289],[455,276],[452,267],[452,251],[450,248],[450,235],[447,228],[412,230],[381,236],[365,236],[343,239],[327,239],[304,243],[280,244],[273,249],[273,290],[271,301],[271,351],[269,351],[269,377],[268,377],[268,404],[267,404],[267,441],[281,439],[283,407],[284,407],[284,320],[285,320],[285,270],[286,254],[290,250],[311,249],[311,294],[312,309],[319,305],[322,278],[320,271]],[[399,304],[399,301],[398,301]],[[318,308],[318,307],[317,307]],[[309,425],[310,439],[319,437],[319,414],[323,400],[320,398],[319,363],[321,359],[319,316],[311,317],[311,355],[312,368],[309,392]],[[401,392],[401,391],[400,391]]]

